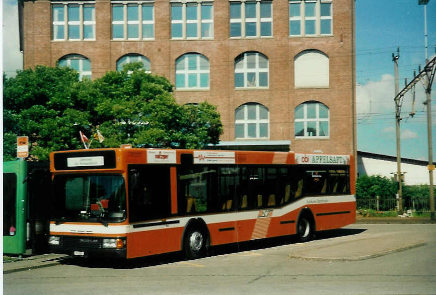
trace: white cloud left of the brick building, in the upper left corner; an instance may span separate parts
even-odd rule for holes
[[[18,31],[17,1],[3,2],[3,70],[8,76],[15,76],[17,69],[23,67],[23,55],[20,52]]]

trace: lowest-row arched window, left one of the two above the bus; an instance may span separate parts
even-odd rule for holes
[[[269,138],[269,111],[258,103],[247,103],[235,111],[235,138]]]

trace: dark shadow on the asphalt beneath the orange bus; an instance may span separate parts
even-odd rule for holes
[[[322,231],[316,233],[315,240],[326,240],[331,238],[358,235],[365,231],[367,231],[367,229],[335,229]],[[224,254],[260,250],[296,243],[299,243],[298,237],[296,235],[240,242],[235,244],[211,247],[209,249],[209,256],[220,256]],[[128,260],[110,258],[96,259],[70,256],[60,260],[59,263],[63,265],[75,265],[86,268],[135,269],[165,265],[181,261],[186,261],[183,253],[173,252],[142,258],[133,258]]]

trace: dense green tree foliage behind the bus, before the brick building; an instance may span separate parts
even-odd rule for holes
[[[171,83],[140,67],[130,63],[94,81],[79,81],[76,70],[59,66],[4,75],[4,161],[16,159],[17,135],[29,136],[34,160],[81,149],[79,131],[92,137],[97,129],[105,140],[94,140],[91,148],[201,149],[219,141],[223,128],[215,106],[177,104]]]

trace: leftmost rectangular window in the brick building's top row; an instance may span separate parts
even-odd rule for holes
[[[51,12],[53,40],[95,40],[94,4],[53,4]]]

